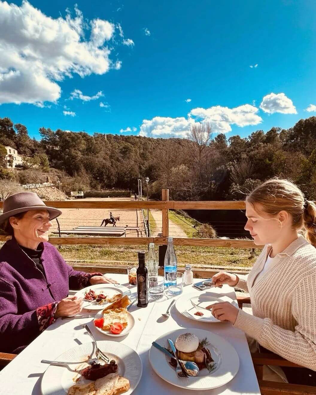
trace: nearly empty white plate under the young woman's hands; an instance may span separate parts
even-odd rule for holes
[[[220,293],[216,294],[216,296],[213,295],[214,292],[209,291],[198,295],[196,294],[196,292],[182,295],[181,297],[179,297],[179,299],[177,299],[175,303],[175,308],[179,311],[179,313],[187,318],[191,318],[191,320],[202,322],[222,322],[220,320],[217,320],[212,315],[211,311],[204,309],[198,310],[198,308],[194,307],[190,302],[191,299],[196,305],[206,308],[210,305],[213,305],[213,303],[227,301],[238,307],[237,303],[230,299],[228,296],[221,295]],[[194,315],[194,313],[196,313],[197,311],[201,311],[203,313],[203,316]]]

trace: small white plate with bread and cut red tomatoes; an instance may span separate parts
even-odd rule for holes
[[[107,336],[125,336],[134,327],[135,320],[127,311],[131,301],[127,295],[105,307],[94,317],[94,327]]]

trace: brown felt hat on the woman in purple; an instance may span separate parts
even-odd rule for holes
[[[60,216],[60,210],[49,207],[33,192],[19,192],[11,195],[3,202],[3,213],[0,215],[0,224],[15,214],[30,210],[47,210],[49,219],[53,220]]]

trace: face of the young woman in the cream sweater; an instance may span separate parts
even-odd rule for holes
[[[250,232],[256,245],[275,243],[280,239],[284,225],[290,220],[289,214],[284,211],[271,216],[263,211],[259,203],[254,207],[248,202],[246,202],[246,217],[248,220],[245,229]]]

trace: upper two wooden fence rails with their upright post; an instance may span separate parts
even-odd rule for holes
[[[178,210],[245,210],[244,201],[173,201],[169,200],[169,190],[162,190],[162,201],[47,201],[45,204],[58,209],[160,209],[162,211],[162,237],[52,237],[55,245],[147,245],[155,243],[166,245],[169,236],[169,209]],[[2,208],[3,202],[0,202]],[[4,240],[0,236],[0,240]],[[262,248],[252,240],[190,239],[173,238],[176,246]]]

